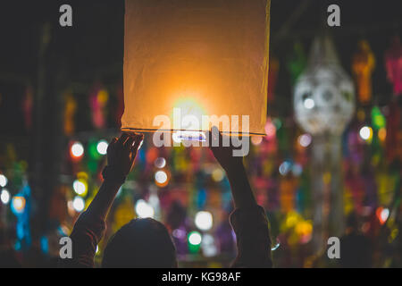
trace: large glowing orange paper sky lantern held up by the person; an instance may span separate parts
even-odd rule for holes
[[[197,133],[211,127],[203,116],[227,115],[224,133],[264,135],[269,8],[270,0],[126,0],[121,130]]]

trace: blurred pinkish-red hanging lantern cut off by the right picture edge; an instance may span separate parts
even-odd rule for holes
[[[396,96],[402,94],[402,45],[400,38],[395,37],[392,46],[385,54],[385,67],[388,80],[394,86]]]

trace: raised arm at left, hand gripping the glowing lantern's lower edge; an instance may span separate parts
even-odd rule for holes
[[[113,200],[131,171],[143,135],[123,133],[107,147],[105,181],[88,209],[80,214],[71,231],[72,258],[61,259],[60,267],[93,267],[96,246],[105,233],[105,219]]]

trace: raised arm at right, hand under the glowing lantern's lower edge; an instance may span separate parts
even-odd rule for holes
[[[238,256],[232,267],[272,267],[268,220],[264,208],[256,204],[243,157],[233,156],[234,147],[231,144],[230,147],[222,147],[224,139],[215,127],[209,132],[208,139],[216,160],[228,176],[236,207],[230,214],[238,246]]]

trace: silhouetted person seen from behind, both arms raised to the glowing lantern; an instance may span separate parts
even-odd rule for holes
[[[238,257],[234,267],[271,267],[271,240],[264,208],[257,206],[247,180],[242,157],[233,157],[233,147],[222,144],[215,128],[207,133],[210,148],[226,171],[234,205],[230,223],[237,236]],[[88,209],[80,214],[71,232],[72,258],[60,259],[61,267],[93,267],[96,246],[105,232],[105,219],[125,177],[131,171],[143,135],[123,133],[107,148],[108,165],[100,187]],[[215,143],[214,145],[212,143]],[[151,218],[138,218],[125,224],[108,241],[103,267],[177,267],[175,247],[168,230]]]

